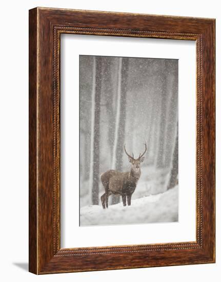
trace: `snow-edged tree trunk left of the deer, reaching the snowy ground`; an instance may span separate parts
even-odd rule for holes
[[[99,204],[99,126],[102,81],[102,57],[94,57],[94,79],[92,91],[92,118],[91,118],[91,167],[90,187],[92,204]]]

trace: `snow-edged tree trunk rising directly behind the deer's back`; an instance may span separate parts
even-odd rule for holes
[[[118,171],[122,171],[122,165],[123,165],[128,67],[129,67],[129,59],[119,58],[117,112],[116,112],[116,123],[115,123],[113,160],[112,160],[112,169]],[[119,203],[119,196],[112,195],[111,204],[113,205],[117,203]]]

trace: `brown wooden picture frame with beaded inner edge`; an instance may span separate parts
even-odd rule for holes
[[[61,249],[61,33],[196,41],[196,241]],[[215,262],[215,19],[29,11],[29,271],[35,274]]]

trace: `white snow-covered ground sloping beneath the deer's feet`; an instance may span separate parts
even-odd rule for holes
[[[178,186],[164,193],[132,199],[131,206],[122,202],[103,209],[90,205],[80,210],[81,226],[163,223],[178,221]]]

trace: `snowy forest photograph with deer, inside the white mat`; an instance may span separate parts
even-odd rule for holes
[[[178,221],[178,59],[79,55],[79,226]]]

